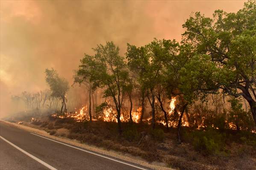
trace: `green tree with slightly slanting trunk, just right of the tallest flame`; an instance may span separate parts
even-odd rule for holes
[[[175,109],[174,113],[179,110],[179,121],[177,125],[177,137],[178,142],[181,142],[180,138],[180,130],[182,126],[182,117],[185,112],[187,112],[187,107],[201,94],[200,89],[197,85],[194,85],[191,82],[191,77],[189,77],[188,73],[193,70],[190,70],[188,67],[188,63],[192,63],[191,59],[194,58],[195,52],[193,48],[189,44],[181,44],[175,40],[163,40],[163,44],[165,47],[164,57],[162,60],[164,61],[163,69],[165,72],[166,79],[166,90],[169,96],[178,96],[178,105],[177,109]],[[187,73],[188,72],[188,73]],[[197,82],[198,79],[195,79],[194,82]]]

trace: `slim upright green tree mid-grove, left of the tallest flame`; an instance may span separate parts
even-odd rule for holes
[[[162,41],[155,39],[140,48],[128,44],[126,55],[130,69],[138,71],[138,84],[141,87],[142,96],[146,91],[151,106],[152,127],[155,128],[156,85],[160,83],[163,65]]]

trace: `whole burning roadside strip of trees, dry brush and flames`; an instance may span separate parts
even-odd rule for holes
[[[253,170],[256,1],[212,18],[196,12],[182,27],[181,42],[127,44],[124,55],[97,45],[71,87],[46,69],[50,90],[12,96],[27,111],[8,120],[181,170]]]

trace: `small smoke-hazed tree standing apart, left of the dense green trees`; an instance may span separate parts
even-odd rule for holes
[[[60,114],[62,114],[63,106],[64,106],[64,112],[67,111],[66,108],[66,93],[68,92],[69,86],[68,86],[68,81],[64,78],[59,77],[59,74],[57,73],[56,70],[53,68],[50,69],[45,69],[45,80],[50,86],[51,90],[51,96],[62,99],[62,108],[60,111]]]

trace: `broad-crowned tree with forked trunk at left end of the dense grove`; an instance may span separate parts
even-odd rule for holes
[[[88,77],[92,87],[105,88],[104,97],[112,97],[117,111],[118,130],[121,130],[121,108],[124,101],[125,87],[129,74],[124,62],[124,57],[119,55],[119,47],[113,42],[106,45],[97,45],[93,48],[95,55],[85,54],[81,59],[79,70],[81,75]]]

